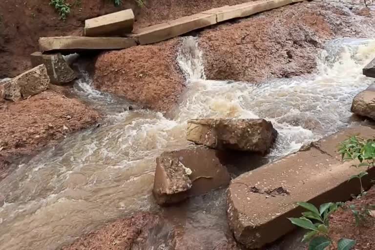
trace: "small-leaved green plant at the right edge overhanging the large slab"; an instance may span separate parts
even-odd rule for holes
[[[339,145],[339,153],[343,161],[358,160],[359,164],[354,167],[374,167],[375,164],[375,140],[365,140],[363,138],[353,136]],[[362,178],[368,175],[368,172],[362,171],[359,174],[352,175],[349,181],[353,179],[359,180],[360,194],[354,196],[354,199],[360,199],[367,194],[363,188]],[[371,209],[375,205],[361,204],[361,206],[350,205],[349,209],[352,211],[355,219],[355,225],[363,224],[370,216]]]

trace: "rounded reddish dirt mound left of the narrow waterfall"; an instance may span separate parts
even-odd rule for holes
[[[95,87],[156,110],[168,110],[184,89],[176,62],[178,39],[101,54]]]

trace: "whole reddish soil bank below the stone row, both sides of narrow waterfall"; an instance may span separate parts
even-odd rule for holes
[[[188,35],[198,37],[207,79],[264,83],[311,73],[326,41],[365,34],[373,13],[364,11],[359,1],[349,7],[304,1]],[[354,17],[358,12],[364,14]],[[95,84],[148,107],[170,110],[185,89],[176,67],[179,41],[174,38],[100,55]]]

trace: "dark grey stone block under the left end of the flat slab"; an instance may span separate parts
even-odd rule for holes
[[[34,52],[31,54],[31,64],[33,67],[44,64],[49,79],[54,84],[69,83],[77,78],[60,53],[43,55],[42,52]]]

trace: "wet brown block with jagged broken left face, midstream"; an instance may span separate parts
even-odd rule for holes
[[[168,205],[229,185],[230,175],[216,150],[205,146],[164,152],[156,160],[154,197]]]

